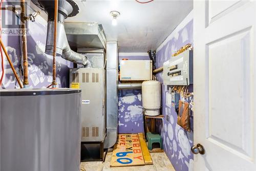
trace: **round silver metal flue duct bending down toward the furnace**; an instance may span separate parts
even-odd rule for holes
[[[39,8],[44,9],[48,14],[48,27],[46,39],[46,54],[53,54],[54,42],[54,1],[33,1]],[[58,24],[57,24],[57,40],[56,40],[56,55],[81,64],[84,67],[91,67],[90,61],[86,56],[78,54],[71,50],[67,35],[64,28],[64,19],[78,14],[79,8],[77,4],[72,1],[59,0],[58,1]]]

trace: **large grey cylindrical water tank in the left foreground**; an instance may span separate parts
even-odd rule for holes
[[[1,90],[0,103],[0,170],[80,170],[81,90]]]

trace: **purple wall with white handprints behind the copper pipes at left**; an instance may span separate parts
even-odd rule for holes
[[[12,16],[8,12],[8,16]],[[45,54],[47,23],[40,16],[36,17],[36,22],[28,21],[27,46],[29,65],[29,86],[30,88],[46,88],[52,82],[52,56]],[[20,64],[20,45],[18,35],[2,34],[3,43],[13,62],[14,68],[19,75],[18,66]],[[12,73],[10,65],[4,55],[5,76],[1,88],[14,89],[18,83]],[[73,64],[70,61],[56,58],[56,78],[58,87],[69,87],[69,68]],[[0,71],[2,74],[2,70]]]

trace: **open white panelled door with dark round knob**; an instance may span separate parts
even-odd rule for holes
[[[256,2],[194,1],[194,170],[256,170]]]

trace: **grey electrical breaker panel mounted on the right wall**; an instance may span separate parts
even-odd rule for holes
[[[193,50],[186,50],[163,63],[163,83],[173,86],[193,84]]]

